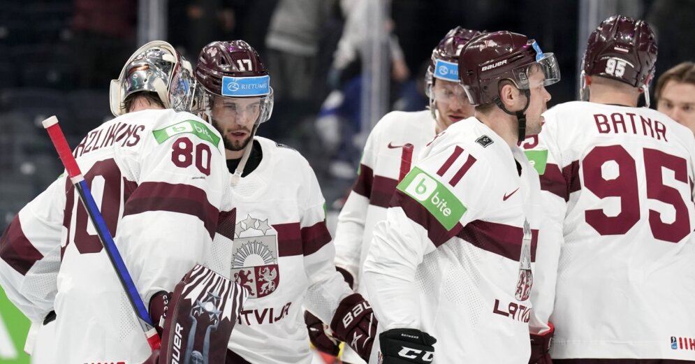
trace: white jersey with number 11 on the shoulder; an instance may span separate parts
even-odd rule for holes
[[[433,363],[527,363],[540,224],[520,148],[474,117],[449,126],[374,229],[363,274],[379,330],[430,333]]]

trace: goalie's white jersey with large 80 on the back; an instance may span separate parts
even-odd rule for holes
[[[73,152],[145,305],[157,291],[173,291],[213,251],[219,209],[229,208],[223,148],[219,133],[198,117],[143,110],[98,126]],[[226,263],[211,268],[226,275]],[[56,311],[55,363],[131,364],[149,356],[65,176],[25,206],[4,233],[0,283],[33,321]]]

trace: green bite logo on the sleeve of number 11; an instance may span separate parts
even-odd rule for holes
[[[467,210],[444,184],[417,167],[397,188],[423,205],[446,230],[451,230]]]

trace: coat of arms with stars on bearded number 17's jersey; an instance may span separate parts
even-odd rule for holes
[[[275,292],[280,283],[277,264],[277,231],[268,219],[251,215],[237,223],[232,247],[231,277],[249,290],[249,298]]]

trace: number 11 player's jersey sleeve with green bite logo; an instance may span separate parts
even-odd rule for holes
[[[475,163],[458,145],[428,153],[398,185],[365,261],[370,302],[384,330],[423,329],[418,265],[486,210],[481,196],[490,187],[488,163]]]

